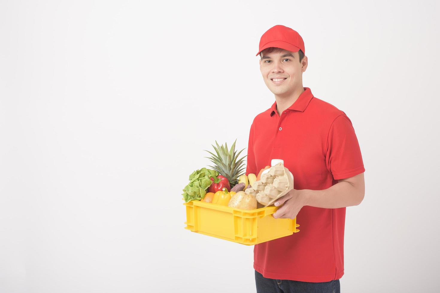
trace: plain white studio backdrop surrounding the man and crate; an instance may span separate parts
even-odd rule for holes
[[[341,291],[438,289],[439,4],[355,2],[1,1],[0,292],[255,292],[253,246],[183,229],[181,193],[275,101],[277,24],[363,155]]]

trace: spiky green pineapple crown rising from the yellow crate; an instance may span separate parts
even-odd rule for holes
[[[235,139],[237,141],[237,139]],[[243,170],[246,170],[245,163],[243,162],[243,159],[247,156],[242,157],[241,159],[238,159],[238,155],[244,150],[244,148],[238,152],[238,154],[235,155],[235,141],[234,144],[231,147],[231,150],[227,149],[227,144],[225,143],[223,145],[219,145],[216,141],[217,147],[214,145],[213,148],[216,151],[217,155],[214,155],[212,152],[209,152],[212,156],[211,157],[205,157],[207,159],[210,159],[211,162],[214,163],[214,166],[209,166],[220,173],[220,175],[223,175],[227,178],[229,181],[229,184],[231,185],[231,188],[234,187],[236,184],[238,184],[238,177],[240,175],[244,174],[242,173]]]

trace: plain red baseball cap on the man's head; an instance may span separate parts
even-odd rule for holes
[[[275,25],[266,31],[260,39],[260,54],[266,48],[277,47],[291,52],[303,51],[305,54],[304,41],[299,33],[284,25]]]

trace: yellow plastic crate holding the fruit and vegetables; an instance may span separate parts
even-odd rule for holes
[[[198,200],[183,205],[187,210],[185,229],[244,245],[255,245],[300,231],[296,218],[275,219],[271,216],[278,210],[277,206],[241,210]]]

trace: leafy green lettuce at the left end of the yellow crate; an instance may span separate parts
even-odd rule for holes
[[[217,177],[219,173],[216,170],[202,168],[195,170],[189,177],[190,183],[183,188],[183,199],[185,203],[190,200],[200,200],[205,198],[206,189],[213,183],[210,177]]]

